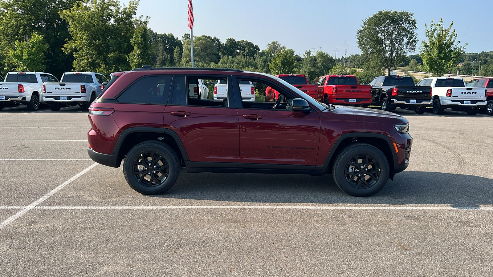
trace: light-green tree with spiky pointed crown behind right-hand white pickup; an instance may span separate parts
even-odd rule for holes
[[[460,46],[456,30],[452,30],[454,22],[448,29],[443,29],[443,19],[438,23],[431,20],[429,27],[424,25],[424,33],[428,41],[422,41],[420,55],[423,58],[423,68],[434,76],[442,76],[448,69],[455,67],[464,54],[467,43]]]

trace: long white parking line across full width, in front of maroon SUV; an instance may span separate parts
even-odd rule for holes
[[[430,206],[3,206],[0,209],[370,209],[370,210],[493,210],[493,207],[430,207]],[[1,225],[0,225],[1,226]],[[0,228],[1,229],[1,228]]]

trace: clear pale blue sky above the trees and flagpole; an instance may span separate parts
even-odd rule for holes
[[[379,10],[404,10],[414,13],[417,21],[417,51],[426,38],[424,24],[440,18],[446,27],[454,21],[458,40],[468,44],[466,52],[493,51],[492,8],[492,0],[474,4],[457,0],[193,0],[193,35],[217,36],[222,42],[228,37],[245,39],[261,50],[277,40],[300,56],[305,50],[322,50],[341,57],[345,43],[348,56],[361,53],[355,35],[363,20]],[[140,0],[137,14],[150,17],[152,31],[181,38],[190,33],[187,10],[188,0]]]

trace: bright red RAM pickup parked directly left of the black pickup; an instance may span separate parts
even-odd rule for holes
[[[371,86],[359,85],[354,75],[326,75],[318,80],[318,96],[325,104],[371,104]]]

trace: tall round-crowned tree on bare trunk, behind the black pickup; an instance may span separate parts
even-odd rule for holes
[[[379,11],[363,21],[356,32],[363,54],[377,57],[390,69],[404,61],[408,52],[416,51],[416,20],[407,11]]]

